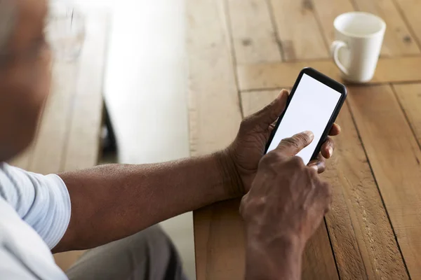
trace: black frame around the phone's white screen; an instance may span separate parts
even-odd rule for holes
[[[347,87],[345,87],[345,85],[342,85],[342,83],[339,83],[336,80],[333,80],[332,78],[329,78],[328,76],[324,75],[323,73],[320,73],[316,69],[313,69],[311,67],[306,67],[306,68],[302,69],[300,71],[300,73],[298,74],[297,80],[295,80],[295,83],[294,83],[294,86],[293,86],[292,90],[290,91],[290,95],[288,97],[288,101],[286,102],[285,109],[281,113],[281,116],[279,116],[279,119],[276,122],[274,130],[272,131],[272,134],[269,137],[269,141],[267,141],[267,144],[266,144],[266,147],[265,147],[265,154],[267,153],[267,150],[269,149],[269,146],[272,143],[272,140],[274,139],[274,136],[276,134],[276,130],[278,130],[278,127],[279,127],[279,124],[281,123],[283,115],[286,112],[286,110],[288,109],[290,101],[291,101],[291,99],[293,99],[295,90],[297,89],[298,84],[300,83],[301,78],[304,74],[307,74],[308,76],[310,76],[310,77],[312,77],[316,80],[319,80],[319,82],[327,85],[328,87],[333,88],[333,90],[336,90],[337,92],[340,92],[340,94],[341,94],[340,100],[339,100],[338,104],[336,104],[336,107],[335,107],[335,110],[333,111],[332,116],[330,116],[330,120],[329,120],[328,124],[326,125],[326,128],[323,131],[323,134],[321,135],[321,139],[320,139],[319,143],[317,144],[317,146],[314,150],[314,153],[312,155],[311,160],[315,160],[317,158],[317,155],[319,155],[320,148],[323,145],[323,143],[326,141],[326,139],[328,137],[328,134],[330,132],[330,129],[332,128],[333,123],[335,123],[335,120],[338,117],[340,109],[342,108],[342,105],[344,104],[345,99],[347,98]]]

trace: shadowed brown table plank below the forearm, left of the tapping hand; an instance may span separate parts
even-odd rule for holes
[[[246,236],[240,200],[213,204],[194,213],[198,280],[243,279]]]

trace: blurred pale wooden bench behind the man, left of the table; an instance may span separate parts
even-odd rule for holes
[[[33,145],[11,164],[41,174],[93,167],[98,163],[102,125],[102,83],[109,18],[86,14],[86,38],[78,59],[55,59],[50,96]],[[81,252],[60,253],[67,269]]]

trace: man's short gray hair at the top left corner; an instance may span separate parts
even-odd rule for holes
[[[0,54],[6,52],[16,23],[16,6],[13,0],[0,0]]]

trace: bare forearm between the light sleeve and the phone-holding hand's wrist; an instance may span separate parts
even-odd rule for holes
[[[107,244],[151,225],[234,197],[222,154],[154,165],[103,165],[59,174],[72,202],[54,252]]]

